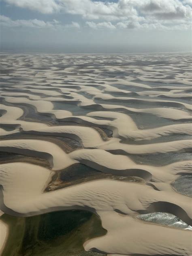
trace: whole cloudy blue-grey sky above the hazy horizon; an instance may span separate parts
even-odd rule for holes
[[[192,0],[0,0],[1,51],[191,51]]]

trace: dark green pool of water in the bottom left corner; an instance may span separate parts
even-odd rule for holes
[[[87,239],[106,233],[93,213],[59,211],[28,218],[4,214],[0,220],[12,230],[2,256],[101,255],[83,250]]]

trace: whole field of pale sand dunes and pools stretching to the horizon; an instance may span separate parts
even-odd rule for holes
[[[59,233],[56,255],[192,255],[190,56],[1,57],[2,255],[52,255],[43,237],[27,251],[24,224],[13,243],[13,223],[67,210],[102,227],[85,217],[96,233]]]

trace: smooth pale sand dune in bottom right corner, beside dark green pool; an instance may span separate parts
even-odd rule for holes
[[[108,256],[192,253],[190,231],[139,222],[115,212],[102,212],[100,216],[107,235],[85,242],[86,251],[96,248],[98,252],[107,252]]]

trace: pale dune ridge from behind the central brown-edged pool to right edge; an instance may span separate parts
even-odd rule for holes
[[[128,156],[113,155],[102,149],[79,149],[69,154],[73,159],[106,173],[116,175],[129,175],[129,170],[134,170],[134,175],[143,179],[156,182],[171,183],[178,173],[192,173],[190,161],[176,162],[166,166],[150,166],[136,164]],[[128,171],[127,171],[128,170]],[[138,172],[141,171],[141,172]],[[147,173],[145,172],[147,171]],[[150,175],[152,177],[150,177]],[[177,176],[176,176],[177,175]]]

